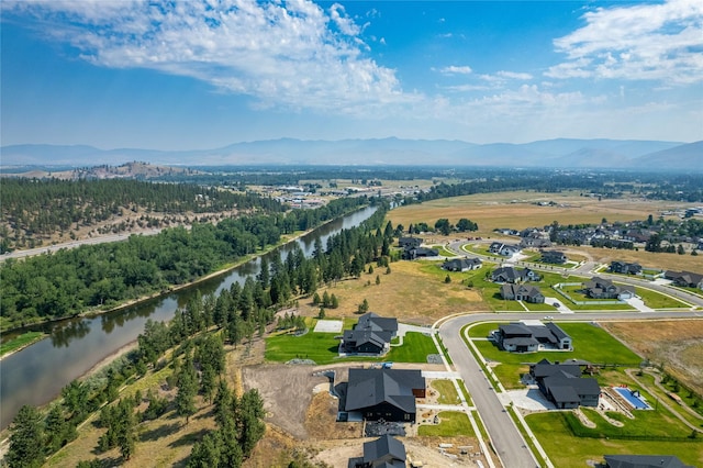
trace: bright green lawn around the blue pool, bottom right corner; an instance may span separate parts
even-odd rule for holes
[[[640,413],[654,413],[643,416]],[[540,445],[547,452],[551,463],[557,467],[580,467],[587,466],[589,460],[602,461],[605,454],[676,454],[684,464],[692,466],[703,466],[703,439],[698,442],[667,442],[667,441],[631,441],[617,438],[574,438],[571,433],[565,412],[547,412],[535,413],[525,416],[527,424],[539,441]],[[599,427],[607,424],[592,417],[593,422],[598,422]],[[639,422],[634,423],[635,428],[645,431],[647,424],[662,427],[666,432],[669,426],[667,420],[657,417],[654,411],[637,412],[636,420],[643,417]],[[628,420],[629,421],[629,420]],[[609,424],[610,425],[610,424]],[[613,427],[613,426],[611,426]],[[616,427],[613,427],[616,428]],[[649,430],[647,430],[649,431]],[[654,428],[651,432],[654,433]],[[659,430],[657,430],[659,431]],[[677,430],[677,433],[679,431]],[[646,434],[645,434],[646,435]]]

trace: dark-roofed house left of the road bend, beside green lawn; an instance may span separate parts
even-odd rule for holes
[[[388,352],[391,339],[398,334],[398,319],[382,317],[373,312],[365,313],[342,335],[339,350],[346,354],[380,355]]]

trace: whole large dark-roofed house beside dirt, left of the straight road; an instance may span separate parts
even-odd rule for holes
[[[415,422],[426,383],[419,369],[349,369],[345,411],[367,421]]]

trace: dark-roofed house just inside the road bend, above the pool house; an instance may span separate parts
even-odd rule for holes
[[[532,353],[540,347],[572,349],[571,336],[554,322],[548,322],[546,325],[526,325],[521,322],[503,324],[499,326],[493,337],[506,352]]]

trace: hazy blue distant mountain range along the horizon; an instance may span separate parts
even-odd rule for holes
[[[294,138],[235,143],[201,151],[99,149],[92,146],[10,145],[0,148],[8,166],[102,164],[132,160],[178,166],[252,165],[395,165],[604,168],[703,171],[703,141],[695,143],[638,140],[547,140],[524,144],[479,145],[449,140]]]

